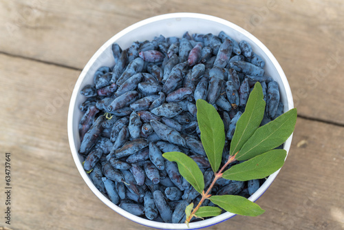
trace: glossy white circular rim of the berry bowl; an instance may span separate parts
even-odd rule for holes
[[[114,36],[112,36],[108,41],[106,41],[98,50],[97,52],[92,56],[91,59],[87,62],[85,67],[83,68],[83,71],[78,76],[78,79],[76,81],[76,84],[74,85],[74,90],[72,92],[72,96],[69,103],[69,109],[68,109],[68,117],[67,117],[67,134],[69,139],[69,147],[72,151],[72,156],[74,159],[74,163],[76,164],[76,167],[82,176],[83,180],[86,182],[89,189],[92,190],[92,192],[100,199],[102,200],[105,205],[119,213],[121,216],[124,216],[125,218],[136,222],[138,224],[142,224],[147,227],[153,227],[156,229],[201,229],[204,227],[210,227],[213,224],[218,224],[219,222],[224,222],[225,220],[228,220],[229,218],[232,218],[235,216],[233,213],[225,212],[222,213],[219,216],[215,216],[213,218],[209,218],[208,220],[200,220],[198,222],[191,222],[189,224],[189,227],[186,227],[186,224],[171,224],[171,223],[162,223],[162,222],[155,222],[153,220],[147,220],[144,218],[140,218],[138,216],[135,216],[123,209],[120,209],[117,205],[114,205],[107,197],[105,197],[96,187],[94,186],[92,180],[89,178],[85,170],[83,169],[83,165],[80,163],[80,160],[78,158],[78,150],[76,149],[76,142],[74,140],[73,136],[73,118],[74,118],[74,109],[76,107],[76,96],[79,93],[80,85],[83,83],[83,80],[85,79],[85,76],[87,72],[89,71],[92,64],[98,59],[100,54],[102,54],[112,43],[114,43],[116,40],[120,39],[120,37],[124,36],[128,32],[131,32],[132,30],[136,30],[136,28],[139,28],[142,25],[147,25],[149,23],[153,23],[155,21],[162,21],[165,19],[178,19],[178,18],[193,18],[193,19],[202,19],[207,21],[215,21],[217,23],[221,23],[224,26],[227,26],[229,28],[232,28],[233,30],[236,30],[237,32],[243,34],[244,36],[247,36],[251,41],[253,41],[256,45],[263,50],[263,52],[268,56],[274,67],[276,68],[279,77],[281,79],[281,82],[283,84],[284,89],[286,90],[286,96],[288,105],[285,105],[288,107],[288,109],[292,109],[294,107],[293,99],[292,99],[292,92],[290,90],[290,85],[288,84],[288,80],[286,78],[286,75],[284,74],[281,65],[279,65],[277,59],[273,54],[266,48],[266,45],[261,43],[259,39],[257,39],[255,36],[250,34],[250,32],[244,30],[244,28],[239,27],[239,25],[235,25],[234,23],[231,23],[230,21],[227,21],[225,19],[221,19],[219,17],[211,16],[208,14],[200,14],[200,13],[193,13],[193,12],[176,12],[176,13],[170,13],[170,14],[161,14],[155,17],[150,17],[148,19],[144,19],[142,21],[138,21],[137,23],[134,23],[133,25],[129,25],[129,27],[121,30]],[[286,112],[286,111],[285,111]],[[290,149],[292,141],[292,135],[286,140],[286,143],[283,146],[283,149],[286,149],[287,156]],[[252,194],[248,200],[251,200],[252,202],[255,202],[264,192],[270,187],[273,180],[275,180],[277,174],[279,174],[279,171],[281,169],[277,170],[274,174],[271,174],[268,179],[264,182],[261,187],[259,187],[259,190],[255,192],[255,194]]]

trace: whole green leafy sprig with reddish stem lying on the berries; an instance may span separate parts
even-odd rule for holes
[[[197,122],[200,127],[201,141],[215,174],[211,185],[204,191],[202,171],[186,154],[173,151],[162,155],[167,160],[175,161],[180,174],[202,195],[195,208],[193,203],[186,207],[185,222],[188,226],[193,217],[218,216],[222,209],[243,216],[259,216],[264,213],[259,205],[242,196],[212,196],[211,189],[219,178],[239,181],[255,180],[265,178],[283,166],[286,150],[275,148],[283,144],[294,131],[297,109],[290,109],[274,121],[259,127],[264,116],[265,105],[263,91],[258,82],[248,97],[245,112],[237,121],[235,133],[230,142],[230,156],[219,169],[225,145],[224,123],[213,105],[197,100]],[[246,161],[225,170],[235,160]],[[222,209],[201,207],[206,199]]]

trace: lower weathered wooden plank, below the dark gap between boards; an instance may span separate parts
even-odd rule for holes
[[[106,207],[78,174],[69,151],[64,99],[78,74],[0,54],[0,145],[12,153],[10,227],[149,229]],[[42,123],[36,112],[45,115]],[[209,229],[343,229],[343,142],[344,127],[299,118],[286,165],[257,201],[266,213],[236,216]],[[0,226],[7,227],[3,218]]]

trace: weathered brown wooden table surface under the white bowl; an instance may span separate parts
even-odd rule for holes
[[[281,64],[299,112],[285,166],[257,203],[208,229],[344,229],[344,3],[328,1],[0,1],[0,229],[149,229],[100,202],[67,140],[72,88],[111,36],[147,17],[200,12],[262,41]],[[5,153],[12,219],[5,223]],[[1,228],[2,227],[2,228]]]

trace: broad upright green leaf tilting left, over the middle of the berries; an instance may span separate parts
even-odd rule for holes
[[[214,172],[219,169],[224,150],[224,122],[213,105],[198,99],[197,121],[201,131],[201,141]]]

